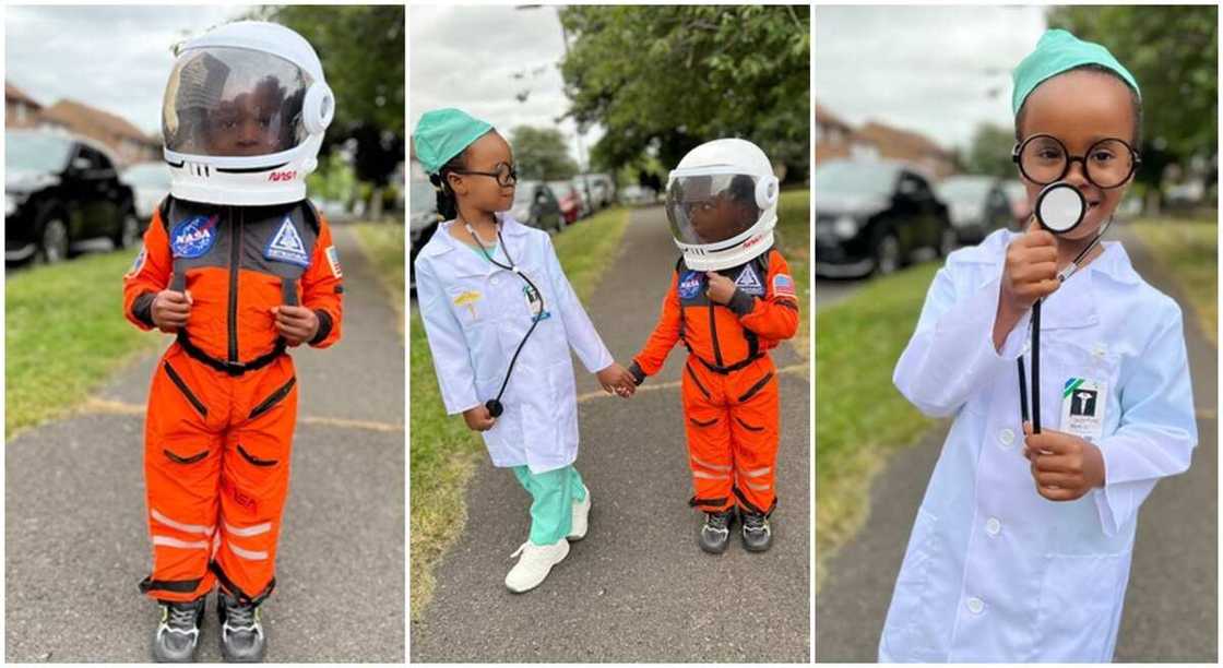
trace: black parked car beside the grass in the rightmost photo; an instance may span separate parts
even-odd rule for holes
[[[834,160],[813,174],[816,274],[889,274],[921,250],[955,248],[947,206],[915,169],[890,160]]]

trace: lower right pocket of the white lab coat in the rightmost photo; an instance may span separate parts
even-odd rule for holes
[[[1032,661],[1110,661],[1129,553],[1048,554]]]

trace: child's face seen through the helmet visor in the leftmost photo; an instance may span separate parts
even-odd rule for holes
[[[280,150],[284,95],[260,84],[253,92],[223,100],[208,115],[209,155],[269,155]]]

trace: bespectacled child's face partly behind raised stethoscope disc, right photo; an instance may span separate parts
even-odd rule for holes
[[[1020,136],[1033,135],[1057,137],[1073,157],[1084,155],[1099,139],[1118,138],[1134,144],[1134,106],[1130,89],[1115,77],[1102,72],[1075,70],[1058,75],[1040,86],[1024,103],[1024,122]],[[1027,188],[1027,203],[1035,207],[1036,196],[1044,187],[1029,181],[1020,174]],[[1129,190],[1132,176],[1125,185],[1101,188],[1087,180],[1080,160],[1070,163],[1065,181],[1079,188],[1087,201],[1082,223],[1063,235],[1069,240],[1090,239],[1107,221]]]

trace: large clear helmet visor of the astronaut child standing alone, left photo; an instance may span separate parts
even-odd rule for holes
[[[165,148],[215,158],[270,155],[309,132],[302,108],[312,77],[297,65],[249,49],[186,51],[161,105]]]

